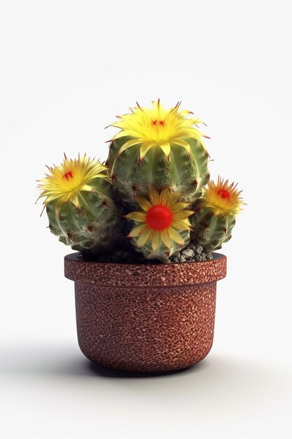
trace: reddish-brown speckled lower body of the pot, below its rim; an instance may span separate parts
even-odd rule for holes
[[[215,304],[215,282],[155,291],[76,283],[78,343],[91,361],[114,369],[184,369],[211,349]]]

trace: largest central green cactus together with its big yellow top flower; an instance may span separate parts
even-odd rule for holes
[[[120,132],[111,141],[106,165],[125,203],[134,205],[135,196],[147,196],[149,184],[181,192],[187,202],[202,194],[209,180],[206,136],[194,128],[200,119],[188,119],[192,113],[179,106],[164,109],[160,100],[151,109],[137,104],[112,124]]]

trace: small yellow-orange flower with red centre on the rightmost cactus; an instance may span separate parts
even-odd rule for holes
[[[224,182],[221,177],[218,177],[217,184],[210,180],[202,195],[202,207],[211,208],[214,215],[236,215],[245,204],[240,196],[242,191],[238,191],[236,187],[237,184],[228,185],[228,180]]]

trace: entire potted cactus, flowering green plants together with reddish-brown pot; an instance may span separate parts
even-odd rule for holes
[[[177,370],[202,360],[214,335],[216,281],[242,197],[209,180],[201,121],[180,109],[137,107],[118,116],[106,162],[86,155],[49,168],[40,198],[50,231],[77,252],[78,343],[90,360],[122,370]]]

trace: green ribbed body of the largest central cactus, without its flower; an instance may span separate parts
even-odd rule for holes
[[[118,151],[132,137],[121,137],[111,143],[106,166],[111,168],[113,186],[118,189],[125,203],[135,205],[134,196],[146,196],[148,186],[160,191],[169,187],[179,191],[183,201],[195,201],[202,194],[202,187],[209,180],[208,153],[202,144],[193,138],[185,139],[190,152],[179,145],[173,145],[169,157],[159,146],[151,148],[140,159],[140,147],[135,145]]]

